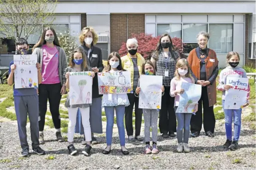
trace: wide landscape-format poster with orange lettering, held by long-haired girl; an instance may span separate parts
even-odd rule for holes
[[[131,72],[98,73],[99,94],[132,93]]]

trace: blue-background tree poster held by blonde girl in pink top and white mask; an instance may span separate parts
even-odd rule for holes
[[[202,86],[182,82],[181,89],[184,89],[184,93],[179,96],[179,106],[176,113],[194,113],[195,104],[201,98]]]

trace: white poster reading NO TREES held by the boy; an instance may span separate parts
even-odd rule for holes
[[[38,88],[37,55],[14,55],[15,88]]]

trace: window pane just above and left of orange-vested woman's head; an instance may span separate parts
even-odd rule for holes
[[[183,24],[183,42],[185,43],[196,43],[196,35],[200,31],[207,32],[206,23],[184,23]]]

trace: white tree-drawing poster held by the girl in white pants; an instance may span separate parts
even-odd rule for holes
[[[91,72],[70,72],[69,98],[70,105],[92,103],[93,78]]]

